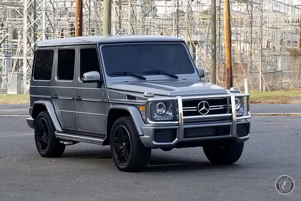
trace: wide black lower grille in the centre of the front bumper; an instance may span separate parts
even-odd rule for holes
[[[230,135],[230,125],[204,126],[196,128],[184,128],[184,138],[202,138]]]

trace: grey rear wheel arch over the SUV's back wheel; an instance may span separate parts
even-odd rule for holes
[[[50,100],[38,100],[33,103],[31,116],[36,119],[40,112],[47,111],[51,117],[53,125],[57,131],[62,131],[61,125],[57,119],[54,106]]]

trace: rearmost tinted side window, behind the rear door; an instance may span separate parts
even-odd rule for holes
[[[38,50],[33,78],[35,80],[50,80],[53,63],[53,50]]]

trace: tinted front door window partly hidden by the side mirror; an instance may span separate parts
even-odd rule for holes
[[[98,61],[98,54],[96,48],[82,48],[80,49],[80,79],[82,75],[90,71],[97,71],[100,73],[100,66]]]

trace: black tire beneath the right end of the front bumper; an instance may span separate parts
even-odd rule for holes
[[[223,145],[204,146],[207,159],[215,165],[227,165],[236,162],[243,153],[244,142],[227,142]]]

